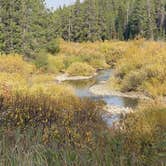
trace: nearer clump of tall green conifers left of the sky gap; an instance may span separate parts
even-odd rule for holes
[[[55,38],[43,0],[0,0],[0,52],[32,56]]]

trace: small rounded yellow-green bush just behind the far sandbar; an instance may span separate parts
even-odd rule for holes
[[[91,76],[95,69],[86,63],[75,62],[69,66],[67,73],[71,76]]]

